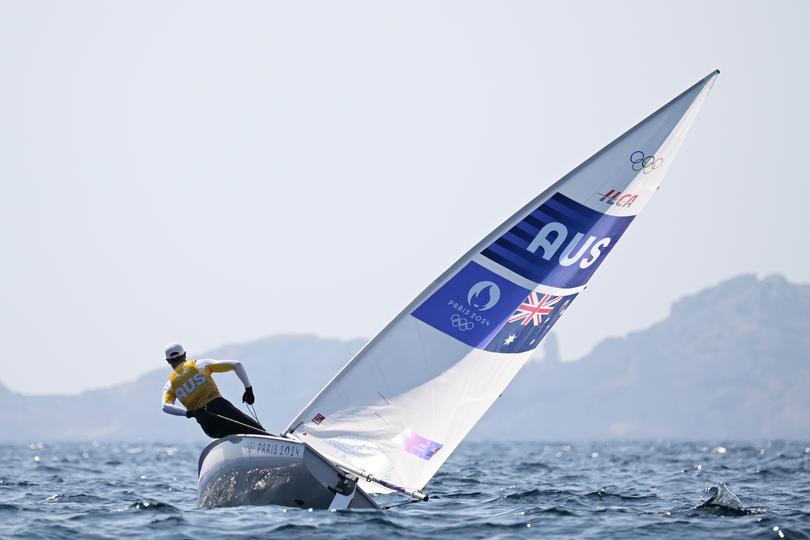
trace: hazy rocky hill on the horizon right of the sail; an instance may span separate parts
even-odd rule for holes
[[[731,279],[578,362],[530,364],[481,423],[507,438],[807,438],[810,286]]]

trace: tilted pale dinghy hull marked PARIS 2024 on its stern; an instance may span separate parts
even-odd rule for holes
[[[201,507],[267,505],[315,509],[379,506],[350,477],[304,443],[230,435],[200,454]]]

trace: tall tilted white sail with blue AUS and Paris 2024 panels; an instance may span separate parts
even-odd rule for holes
[[[718,73],[479,242],[358,352],[285,434],[376,478],[423,488],[658,189]]]

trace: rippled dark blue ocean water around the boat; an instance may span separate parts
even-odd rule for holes
[[[384,512],[199,509],[202,446],[0,445],[0,537],[810,539],[810,441],[465,443]],[[743,510],[701,507],[720,482]]]

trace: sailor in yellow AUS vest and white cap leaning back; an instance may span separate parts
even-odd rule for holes
[[[166,361],[174,370],[163,387],[163,412],[196,418],[206,435],[213,438],[239,433],[266,434],[256,420],[244,414],[223,398],[212,375],[235,371],[245,385],[242,402],[253,405],[253,387],[238,360],[187,360],[178,343],[166,346]],[[185,409],[174,405],[179,399]]]

